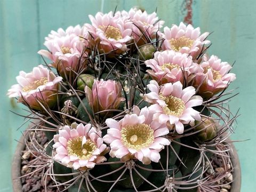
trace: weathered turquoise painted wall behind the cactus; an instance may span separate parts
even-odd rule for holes
[[[255,191],[256,161],[256,1],[255,0],[0,0],[0,192],[12,191],[11,162],[17,141],[26,124],[11,113],[26,114],[25,107],[6,96],[20,70],[26,72],[41,63],[37,54],[45,49],[44,37],[51,30],[89,22],[88,15],[98,11],[130,10],[133,6],[148,13],[157,9],[165,26],[181,21],[209,31],[209,54],[235,65],[237,75],[229,89],[239,94],[230,102],[230,110],[241,116],[232,135],[242,167],[242,192]]]

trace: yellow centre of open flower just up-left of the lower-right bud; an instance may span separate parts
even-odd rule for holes
[[[182,99],[174,97],[173,95],[169,95],[164,97],[163,95],[159,95],[159,97],[166,103],[166,107],[163,107],[163,111],[166,115],[174,115],[179,117],[183,114],[185,110],[185,103]]]

